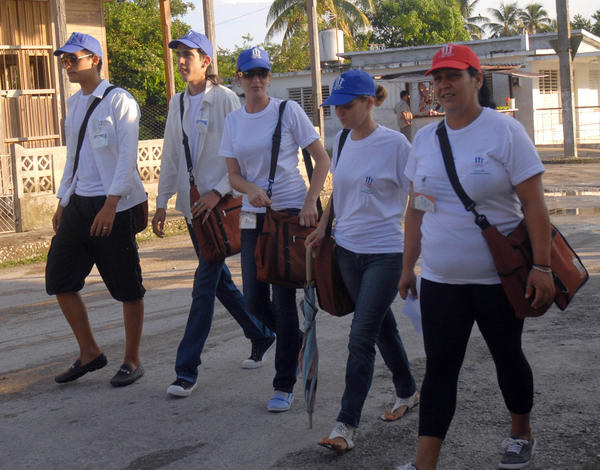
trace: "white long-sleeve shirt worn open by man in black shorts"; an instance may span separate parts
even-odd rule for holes
[[[67,100],[69,110],[77,108],[81,99],[102,98],[109,86],[102,80],[96,89],[87,96],[81,90]],[[69,111],[65,119],[67,139],[67,162],[57,192],[60,204],[66,206],[77,184],[77,173],[73,177],[75,152],[81,122],[75,122],[74,114]],[[129,209],[147,199],[144,185],[137,172],[137,150],[140,109],[127,91],[122,88],[112,90],[96,107],[87,124],[85,139],[90,145],[85,147],[91,152],[98,168],[106,195],[121,196],[117,212]],[[81,164],[81,155],[80,161]]]

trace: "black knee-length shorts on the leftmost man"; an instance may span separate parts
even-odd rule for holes
[[[94,218],[105,201],[104,196],[71,196],[48,252],[48,294],[79,292],[95,263],[114,299],[128,302],[144,297],[131,209],[117,212],[108,237],[90,236]]]

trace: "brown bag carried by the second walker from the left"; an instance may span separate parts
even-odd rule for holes
[[[200,194],[194,185],[190,188],[192,206],[198,199]],[[241,251],[241,213],[242,198],[228,194],[221,198],[204,222],[204,215],[192,219],[194,235],[200,245],[200,253],[206,261],[222,261]]]

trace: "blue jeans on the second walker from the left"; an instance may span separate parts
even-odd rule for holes
[[[198,255],[198,267],[194,275],[192,305],[185,333],[177,348],[175,372],[177,377],[196,382],[200,355],[208,337],[215,311],[215,296],[239,323],[244,336],[250,341],[272,338],[273,332],[253,317],[248,310],[241,292],[231,279],[231,273],[224,261],[206,261],[198,246],[194,231],[188,225],[194,249]]]

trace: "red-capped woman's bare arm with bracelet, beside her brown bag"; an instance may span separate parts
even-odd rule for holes
[[[519,183],[515,190],[521,201],[527,232],[531,240],[533,264],[550,266],[550,218],[544,202],[541,173]],[[525,298],[534,296],[531,306],[540,308],[549,305],[554,299],[552,271],[542,272],[531,269],[527,277]]]

